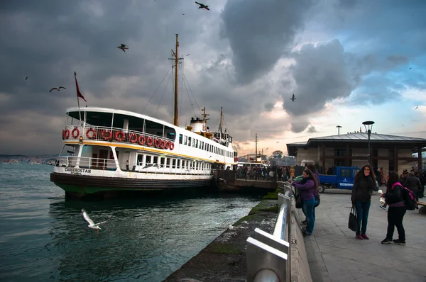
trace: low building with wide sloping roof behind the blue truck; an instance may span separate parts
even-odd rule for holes
[[[373,168],[383,167],[386,171],[425,168],[422,148],[425,138],[378,134],[370,135],[370,163]],[[287,144],[288,155],[296,157],[296,164],[315,162],[323,168],[362,167],[368,159],[368,134],[353,132],[325,137],[313,137],[306,142]],[[419,153],[413,157],[413,153]]]

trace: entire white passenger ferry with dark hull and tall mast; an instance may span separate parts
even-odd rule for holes
[[[178,45],[176,64],[177,54]],[[112,108],[67,108],[50,181],[75,198],[210,186],[215,169],[234,169],[238,157],[231,135],[222,132],[222,109],[218,132],[209,131],[202,111],[180,128],[177,111],[174,125]]]

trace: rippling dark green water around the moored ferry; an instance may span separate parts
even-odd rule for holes
[[[259,196],[65,201],[50,166],[0,166],[0,281],[162,281]],[[97,233],[94,222],[108,220]]]

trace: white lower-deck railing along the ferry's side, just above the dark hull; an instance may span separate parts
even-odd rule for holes
[[[56,167],[70,167],[79,169],[97,169],[97,170],[116,170],[116,162],[114,159],[102,159],[93,157],[75,157],[60,156],[56,162]],[[180,174],[180,175],[214,175],[216,169],[192,169],[190,167],[170,166],[166,164],[139,163],[129,166],[126,162],[119,163],[122,171],[131,171],[138,173],[154,173],[154,174]]]

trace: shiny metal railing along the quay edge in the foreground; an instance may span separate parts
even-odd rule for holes
[[[290,281],[290,184],[278,193],[279,213],[273,234],[256,228],[254,238],[247,238],[247,281]]]

